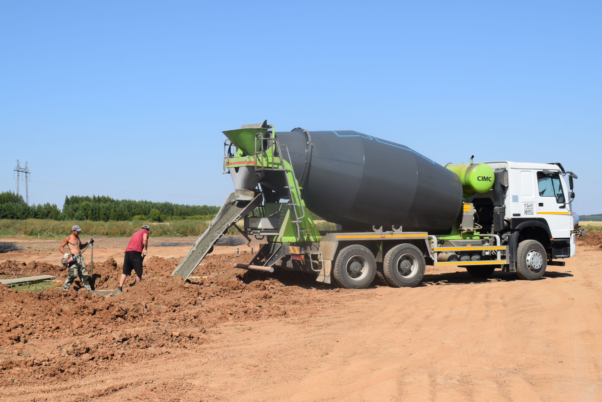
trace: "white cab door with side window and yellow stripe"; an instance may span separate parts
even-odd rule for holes
[[[538,193],[536,194],[537,216],[545,218],[553,238],[571,237],[571,216],[566,206],[564,181],[559,173],[545,175],[537,172]]]

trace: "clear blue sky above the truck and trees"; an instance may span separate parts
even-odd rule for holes
[[[602,2],[0,1],[0,191],[221,205],[221,131],[559,161],[602,213]],[[22,187],[24,185],[22,184]]]

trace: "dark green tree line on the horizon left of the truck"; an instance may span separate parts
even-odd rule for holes
[[[0,193],[0,219],[52,219],[125,221],[211,218],[219,210],[213,205],[182,205],[170,202],[115,200],[107,196],[66,196],[63,210],[56,204],[27,205],[12,191]]]

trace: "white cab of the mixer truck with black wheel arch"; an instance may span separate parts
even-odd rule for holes
[[[494,231],[509,246],[510,270],[520,260],[520,245],[527,241],[540,243],[547,255],[547,265],[564,265],[554,259],[575,254],[575,227],[571,202],[574,198],[572,172],[565,172],[559,163],[485,162],[494,169],[501,186],[471,197],[479,218],[488,223],[492,216]],[[568,178],[568,184],[565,181]],[[496,203],[497,198],[497,203]],[[492,206],[489,206],[489,200]],[[495,224],[495,215],[498,223]],[[503,215],[503,221],[501,216]],[[533,243],[533,242],[531,242]]]

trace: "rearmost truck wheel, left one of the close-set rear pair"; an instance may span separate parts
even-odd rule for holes
[[[341,288],[367,288],[376,275],[376,260],[366,247],[352,244],[338,253],[333,274]]]

